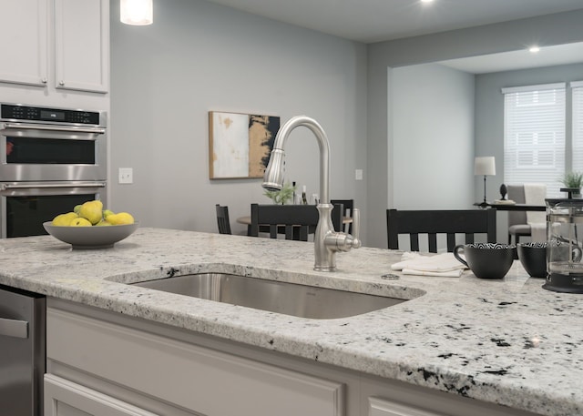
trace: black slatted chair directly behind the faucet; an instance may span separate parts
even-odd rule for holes
[[[320,213],[315,205],[262,205],[251,204],[251,226],[249,235],[258,237],[260,232],[268,232],[270,238],[278,238],[278,234],[286,239],[308,241],[318,225]],[[343,205],[334,205],[332,209],[332,225],[334,229],[342,228]]]

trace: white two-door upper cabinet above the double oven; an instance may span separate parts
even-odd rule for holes
[[[0,82],[107,93],[108,0],[0,0]]]

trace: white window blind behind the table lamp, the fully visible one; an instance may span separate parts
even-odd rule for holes
[[[504,183],[547,185],[562,194],[565,173],[565,84],[505,88]]]

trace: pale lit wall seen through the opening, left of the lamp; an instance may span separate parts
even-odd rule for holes
[[[392,76],[394,208],[471,208],[474,75],[424,64]]]

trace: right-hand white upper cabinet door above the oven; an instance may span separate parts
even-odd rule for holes
[[[108,15],[107,0],[55,0],[56,88],[107,92]]]

